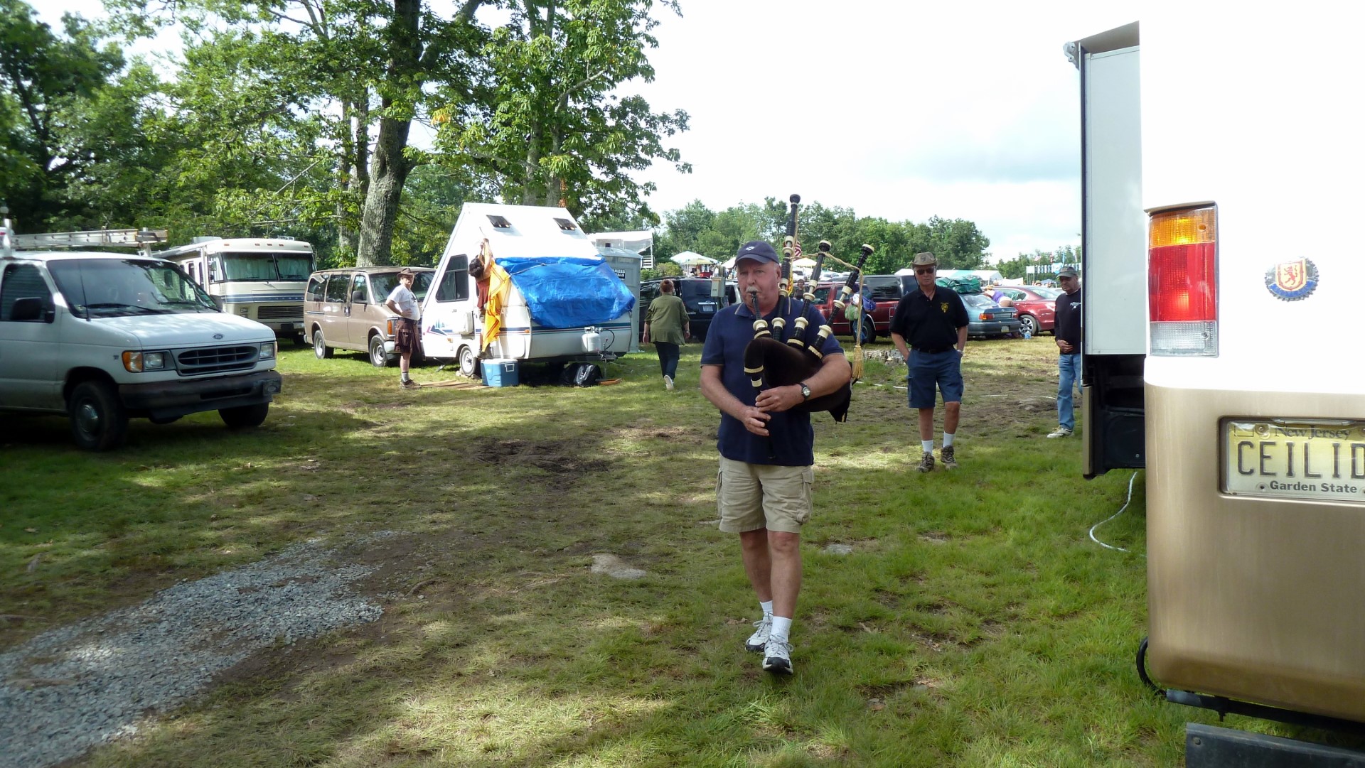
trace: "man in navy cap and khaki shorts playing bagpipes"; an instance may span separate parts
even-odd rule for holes
[[[763,611],[744,647],[763,653],[764,670],[792,674],[788,638],[801,591],[801,525],[811,517],[815,479],[811,415],[792,408],[849,386],[849,361],[831,333],[820,345],[823,363],[815,375],[789,386],[753,387],[744,371],[744,349],[753,340],[753,304],[770,326],[782,316],[786,333],[794,333],[796,319],[805,316],[808,344],[826,321],[800,299],[781,299],[782,269],[773,246],[762,240],[740,246],[734,271],[747,303],[717,312],[702,349],[702,394],[721,411],[715,498],[721,531],[740,535],[744,573]]]

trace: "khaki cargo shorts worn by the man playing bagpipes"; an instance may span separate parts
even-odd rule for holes
[[[721,469],[715,473],[721,531],[745,533],[767,528],[800,533],[815,506],[811,497],[814,482],[815,471],[809,467],[745,464],[722,456]]]

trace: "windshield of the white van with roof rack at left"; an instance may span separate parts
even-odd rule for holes
[[[78,318],[218,311],[202,288],[160,259],[60,259],[48,269]]]

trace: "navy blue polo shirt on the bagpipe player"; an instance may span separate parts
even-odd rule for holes
[[[773,318],[778,315],[784,301],[773,310],[773,314],[763,319],[773,325]],[[803,300],[792,299],[786,319],[785,341],[792,338],[796,327],[796,318],[805,315],[809,325],[805,327],[807,344],[815,341],[820,326],[826,323],[824,316],[814,306]],[[732,304],[715,314],[711,327],[706,331],[706,345],[702,348],[703,366],[721,366],[721,382],[730,394],[745,405],[753,405],[759,390],[749,383],[749,375],[744,372],[744,348],[753,341],[753,311],[743,304]],[[837,338],[830,334],[824,340],[820,352],[842,355]],[[815,464],[815,430],[811,427],[811,415],[805,412],[784,411],[768,413],[767,430],[770,438],[755,435],[744,428],[738,419],[721,412],[721,430],[717,432],[717,447],[721,456],[732,461],[748,464],[773,464],[778,467],[809,467]]]

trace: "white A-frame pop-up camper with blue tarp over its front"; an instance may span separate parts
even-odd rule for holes
[[[485,240],[495,267],[480,308],[470,262]],[[612,360],[631,348],[633,307],[635,295],[565,209],[464,203],[422,306],[422,353],[459,360],[471,376],[480,356]]]

